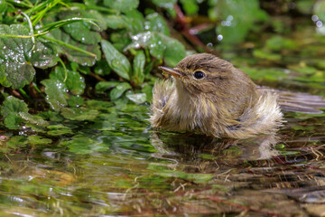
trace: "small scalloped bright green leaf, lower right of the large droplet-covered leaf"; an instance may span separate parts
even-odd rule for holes
[[[68,90],[74,95],[80,95],[84,92],[86,88],[85,79],[79,74],[78,71],[67,70],[67,80],[65,80],[65,74],[63,67],[58,66],[55,71],[52,71],[50,78],[52,80],[60,80],[60,82],[65,83]],[[65,80],[65,82],[64,82]]]

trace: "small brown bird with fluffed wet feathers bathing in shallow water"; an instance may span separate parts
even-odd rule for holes
[[[274,134],[283,123],[281,109],[321,113],[314,108],[325,108],[319,96],[259,87],[245,72],[208,53],[160,69],[172,80],[153,87],[153,127],[246,138]]]

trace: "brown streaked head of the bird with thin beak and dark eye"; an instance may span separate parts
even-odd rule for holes
[[[230,62],[208,53],[190,55],[173,69],[160,69],[171,74],[178,88],[188,90],[190,94],[224,95],[232,91],[242,91],[243,84],[254,86],[246,73],[237,70]]]

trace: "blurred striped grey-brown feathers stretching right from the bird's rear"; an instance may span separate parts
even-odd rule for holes
[[[325,109],[325,98],[302,92],[274,90],[267,87],[258,87],[259,90],[273,91],[279,96],[280,108],[286,111],[302,112],[306,114],[321,114]]]

